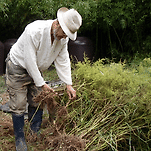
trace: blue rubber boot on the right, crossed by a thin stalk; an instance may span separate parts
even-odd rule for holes
[[[28,106],[28,120],[31,122],[30,128],[34,133],[38,134],[42,123],[43,110],[36,110],[37,108]]]

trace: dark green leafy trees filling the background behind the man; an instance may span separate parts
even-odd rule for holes
[[[56,18],[62,6],[82,15],[79,36],[93,40],[96,59],[150,53],[150,0],[1,0],[0,40],[18,38],[34,20]]]

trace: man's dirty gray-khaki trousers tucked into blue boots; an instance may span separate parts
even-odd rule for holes
[[[9,55],[6,59],[6,85],[10,97],[11,112],[23,114],[26,111],[27,102],[31,107],[38,106],[33,98],[42,91],[42,88],[36,87],[26,69],[15,65]]]

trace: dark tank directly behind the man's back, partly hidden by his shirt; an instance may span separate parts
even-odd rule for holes
[[[7,39],[4,42],[4,73],[6,70],[6,63],[5,63],[5,59],[7,57],[7,54],[9,53],[11,47],[13,46],[13,44],[17,41],[17,39]]]

